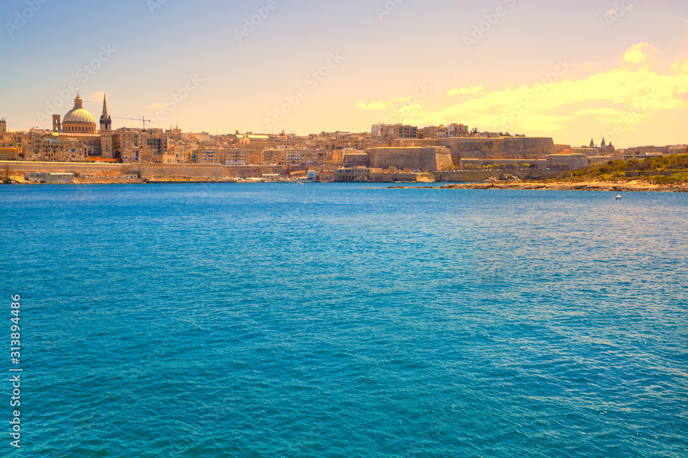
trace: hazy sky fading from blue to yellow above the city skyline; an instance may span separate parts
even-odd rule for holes
[[[0,22],[9,130],[78,91],[113,128],[688,143],[685,0],[3,0]]]

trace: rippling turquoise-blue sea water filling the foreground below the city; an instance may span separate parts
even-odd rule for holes
[[[686,457],[688,195],[615,195],[0,187],[0,456]]]

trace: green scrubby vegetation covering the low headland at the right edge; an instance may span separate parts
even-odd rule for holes
[[[616,160],[593,164],[588,168],[562,172],[541,181],[631,181],[643,180],[656,184],[688,183],[688,154],[648,157],[638,161]]]

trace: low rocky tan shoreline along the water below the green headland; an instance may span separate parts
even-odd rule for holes
[[[422,190],[552,190],[552,191],[611,191],[611,192],[688,192],[688,184],[656,185],[644,181],[614,183],[608,181],[585,181],[578,183],[460,183],[444,186],[389,186],[387,189]]]

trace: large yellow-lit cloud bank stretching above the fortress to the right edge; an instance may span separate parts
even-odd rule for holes
[[[657,113],[688,106],[688,62],[676,62],[671,68],[674,72],[669,74],[649,67],[618,68],[579,80],[508,87],[438,111],[414,104],[413,112],[405,111],[404,122],[419,126],[462,122],[481,130],[547,136],[577,122],[630,126]]]

